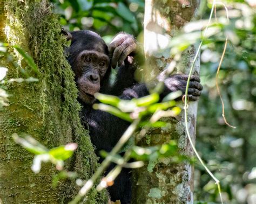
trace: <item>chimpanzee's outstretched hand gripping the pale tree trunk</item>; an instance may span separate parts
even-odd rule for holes
[[[171,75],[164,80],[165,88],[162,94],[165,96],[170,92],[181,90],[182,94],[185,95],[187,79],[188,75],[186,74]],[[188,86],[188,99],[197,101],[201,95],[201,90],[203,90],[203,86],[200,84],[199,77],[192,75]]]

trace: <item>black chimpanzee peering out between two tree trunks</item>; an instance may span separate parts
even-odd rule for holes
[[[110,152],[118,142],[129,122],[124,121],[107,112],[94,110],[96,102],[94,94],[105,93],[117,95],[121,99],[130,100],[149,94],[144,83],[136,83],[134,71],[136,71],[136,40],[124,32],[117,34],[109,46],[95,32],[82,30],[66,32],[71,39],[71,45],[66,49],[68,61],[75,72],[75,80],[79,89],[79,102],[82,104],[82,120],[89,125],[90,137],[96,146],[96,153],[100,150]],[[133,58],[134,57],[134,58]],[[110,86],[111,67],[119,66],[116,81]],[[187,75],[176,74],[165,79],[165,95],[181,90],[185,93]],[[200,79],[192,76],[188,94],[190,100],[198,100],[203,87]],[[87,128],[87,125],[85,125]],[[112,166],[113,167],[113,166]],[[110,171],[111,167],[109,168]],[[129,169],[123,169],[114,181],[114,185],[108,188],[112,201],[120,200],[121,203],[131,202],[131,175]]]

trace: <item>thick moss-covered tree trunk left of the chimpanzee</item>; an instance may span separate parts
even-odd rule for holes
[[[55,167],[43,164],[41,172],[34,174],[32,155],[15,144],[11,135],[31,135],[48,148],[78,143],[79,149],[65,168],[78,172],[80,178],[88,179],[97,167],[88,132],[79,120],[77,89],[64,56],[63,48],[68,42],[61,36],[58,18],[46,0],[1,0],[0,9],[0,40],[22,47],[33,57],[40,72],[31,71],[11,47],[8,52],[20,66],[0,58],[1,66],[9,69],[8,79],[38,79],[5,86],[10,97],[9,106],[0,114],[0,203],[67,202],[77,192],[74,182],[65,181],[52,188]],[[91,203],[104,203],[106,194],[93,189],[88,199]]]

